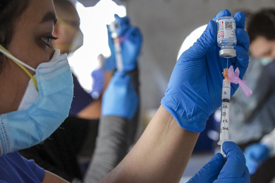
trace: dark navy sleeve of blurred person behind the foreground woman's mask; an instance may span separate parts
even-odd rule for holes
[[[76,116],[83,108],[93,102],[93,98],[81,87],[76,76],[72,74],[74,81],[74,97],[69,112],[69,116]]]

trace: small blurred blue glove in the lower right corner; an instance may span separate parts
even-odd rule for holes
[[[254,174],[257,168],[269,157],[269,152],[269,148],[262,143],[252,144],[245,148],[244,156],[250,174]]]

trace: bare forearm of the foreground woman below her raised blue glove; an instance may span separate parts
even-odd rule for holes
[[[101,182],[179,182],[198,136],[160,106],[137,144]]]

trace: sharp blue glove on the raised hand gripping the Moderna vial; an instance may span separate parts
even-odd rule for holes
[[[209,116],[221,106],[222,71],[227,66],[227,59],[219,56],[215,20],[230,15],[225,9],[209,21],[197,42],[182,53],[170,77],[161,104],[186,130],[202,132]],[[239,67],[242,78],[248,66],[249,37],[244,30],[245,15],[237,12],[234,18],[237,56],[228,60],[228,67]],[[237,87],[231,83],[231,95]]]

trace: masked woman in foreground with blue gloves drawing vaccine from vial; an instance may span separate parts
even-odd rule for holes
[[[66,182],[16,152],[47,138],[68,116],[72,100],[66,55],[59,55],[52,44],[56,22],[52,0],[0,1],[0,7],[0,43],[5,53],[0,60],[1,182]],[[223,10],[214,20],[224,15],[230,12]],[[243,29],[244,15],[236,13],[235,19],[237,58],[230,63],[239,67],[242,77],[248,66],[249,38]],[[197,42],[181,55],[159,110],[137,144],[102,182],[180,180],[199,132],[220,103],[221,85],[215,83],[221,83],[226,63],[217,54],[216,32],[215,21],[210,21]],[[20,61],[15,58],[27,69],[17,65]],[[236,89],[237,85],[231,85],[232,93]],[[227,155],[224,166],[218,153],[189,182],[249,182],[241,150],[225,142],[223,151]]]

